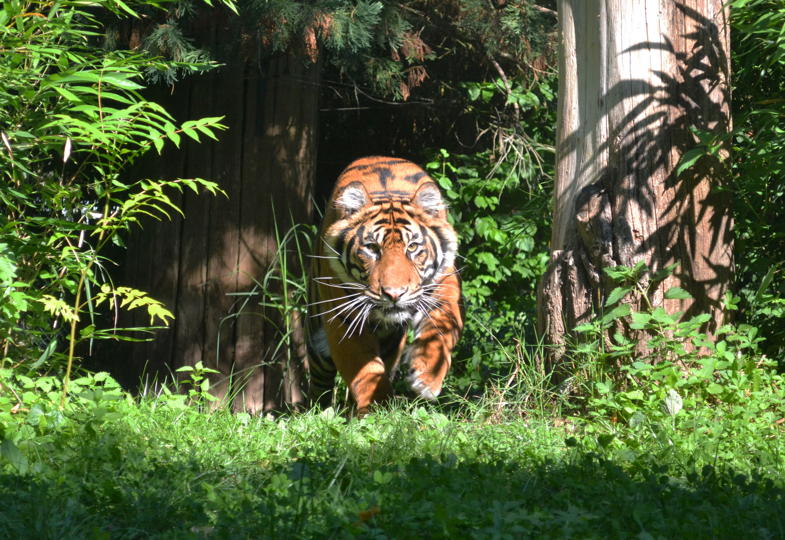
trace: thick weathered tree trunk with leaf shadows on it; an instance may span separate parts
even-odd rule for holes
[[[728,177],[713,158],[680,176],[676,165],[696,144],[690,126],[731,127],[723,3],[558,3],[553,236],[538,295],[552,367],[565,361],[571,329],[600,313],[615,288],[607,266],[643,259],[653,272],[679,263],[653,289],[652,305],[685,317],[711,313],[708,332],[722,324],[720,301],[733,279],[732,199],[714,188]],[[664,300],[676,284],[694,299]]]

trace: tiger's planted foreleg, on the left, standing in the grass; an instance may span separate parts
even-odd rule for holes
[[[368,328],[347,335],[349,327],[338,319],[325,321],[325,330],[335,367],[352,393],[357,415],[367,414],[373,403],[392,399],[392,384],[379,355],[377,336]]]

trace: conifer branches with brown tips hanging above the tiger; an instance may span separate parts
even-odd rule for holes
[[[348,79],[354,99],[365,90],[406,100],[436,60],[424,34],[432,45],[454,42],[479,52],[480,60],[503,59],[515,74],[544,73],[553,60],[556,19],[535,2],[243,0],[238,5],[234,22],[240,37],[234,49],[254,40],[260,53],[294,51],[312,62],[321,56],[342,82]]]

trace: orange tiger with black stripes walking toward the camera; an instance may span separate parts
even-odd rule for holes
[[[457,251],[441,192],[417,165],[371,156],[341,172],[307,284],[312,403],[329,406],[339,373],[365,415],[392,399],[401,361],[418,396],[439,396],[465,317]]]

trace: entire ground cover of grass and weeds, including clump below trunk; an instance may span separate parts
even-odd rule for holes
[[[712,341],[705,317],[633,312],[645,271],[608,272],[619,288],[576,328],[560,384],[519,335],[483,396],[363,419],[232,413],[201,364],[138,399],[105,373],[64,392],[0,368],[0,537],[783,538],[776,362],[755,328]],[[607,338],[621,317],[648,357]]]

